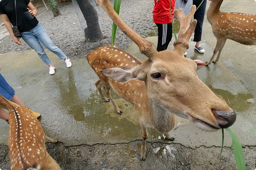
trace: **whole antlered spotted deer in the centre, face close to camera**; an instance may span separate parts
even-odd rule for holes
[[[147,127],[154,127],[173,141],[169,132],[175,126],[175,115],[191,120],[206,131],[226,128],[235,122],[235,112],[197,77],[198,61],[184,58],[197,23],[193,20],[189,25],[195,5],[188,16],[182,9],[174,10],[181,24],[178,40],[174,42],[173,51],[158,52],[153,43],[140,37],[121,20],[109,0],[96,1],[148,57],[142,62],[118,48],[111,51],[111,47],[100,47],[87,55],[90,66],[99,76],[95,85],[102,99],[111,101],[116,111],[122,114],[110,95],[110,88],[113,88],[117,95],[135,106],[142,128],[141,160],[146,158]],[[102,87],[109,99],[103,95]]]

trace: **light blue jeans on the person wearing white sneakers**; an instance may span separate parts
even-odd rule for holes
[[[48,50],[59,56],[60,59],[66,58],[66,55],[60,50],[60,48],[54,45],[53,41],[50,39],[49,35],[40,23],[38,23],[35,28],[30,29],[29,31],[21,32],[21,37],[29,45],[29,47],[37,52],[40,59],[43,60],[46,65],[49,65],[51,61],[45,54],[44,48],[41,46],[40,42]]]

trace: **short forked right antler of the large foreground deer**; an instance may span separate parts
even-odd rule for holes
[[[182,50],[182,52],[189,48],[189,39],[196,27],[197,20],[193,20],[190,24],[192,17],[196,11],[196,5],[192,5],[189,14],[186,16],[183,10],[174,9],[174,14],[177,16],[177,19],[180,21],[180,32],[178,40],[173,43],[174,49]],[[183,52],[183,53],[184,53]]]

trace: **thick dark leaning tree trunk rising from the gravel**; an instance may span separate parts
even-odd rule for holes
[[[84,29],[84,36],[87,41],[95,42],[103,39],[103,33],[99,27],[98,13],[89,0],[76,0],[81,9],[87,28]]]

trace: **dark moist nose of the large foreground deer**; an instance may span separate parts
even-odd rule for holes
[[[232,110],[231,112],[226,112],[212,109],[212,113],[214,114],[219,126],[223,129],[230,127],[232,124],[234,124],[237,117],[234,110]]]

